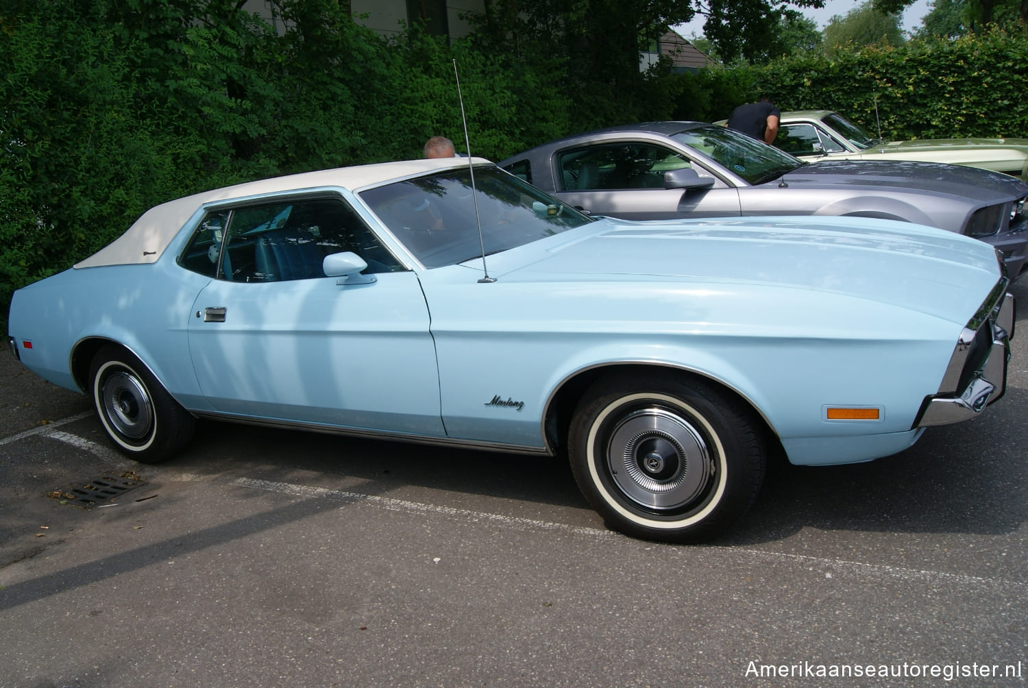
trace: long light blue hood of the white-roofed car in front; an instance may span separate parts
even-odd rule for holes
[[[538,252],[533,259],[526,260],[521,249],[489,256],[489,271],[508,285],[548,283],[553,294],[582,283],[651,283],[642,290],[711,289],[741,302],[781,297],[794,306],[816,301],[831,307],[844,300],[850,306],[854,300],[871,301],[960,326],[999,279],[996,254],[988,245],[906,222],[603,218],[580,229],[584,236],[567,232],[521,247]],[[627,285],[626,291],[631,292]],[[790,317],[811,314],[801,309]]]

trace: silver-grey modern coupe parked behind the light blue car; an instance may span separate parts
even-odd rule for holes
[[[500,166],[596,215],[633,220],[846,215],[917,222],[988,242],[1012,277],[1028,254],[1028,184],[927,162],[804,164],[701,122],[629,124],[567,137]]]

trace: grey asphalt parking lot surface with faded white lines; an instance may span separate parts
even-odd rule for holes
[[[549,459],[209,423],[134,464],[2,356],[0,686],[1022,685],[1026,318],[989,413],[691,547]]]

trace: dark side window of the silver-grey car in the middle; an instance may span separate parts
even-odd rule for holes
[[[563,190],[664,188],[664,173],[692,167],[685,155],[652,143],[611,143],[558,154]]]

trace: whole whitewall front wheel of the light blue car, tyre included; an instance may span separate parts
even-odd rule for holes
[[[667,542],[722,533],[749,508],[766,450],[748,406],[699,378],[594,383],[568,431],[572,471],[613,530]]]

